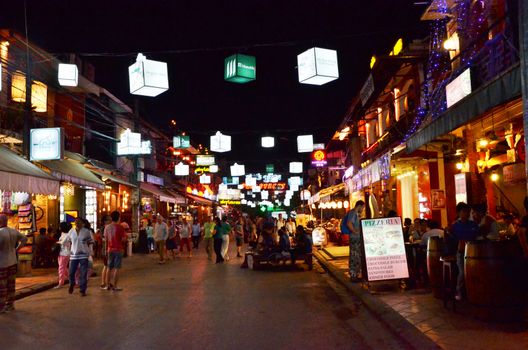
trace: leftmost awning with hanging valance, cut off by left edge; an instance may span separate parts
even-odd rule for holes
[[[0,146],[0,189],[59,195],[58,179],[4,146]]]

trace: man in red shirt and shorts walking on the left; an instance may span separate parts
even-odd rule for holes
[[[106,241],[106,252],[108,254],[108,276],[106,278],[106,289],[121,291],[117,286],[119,269],[123,261],[123,250],[127,242],[127,235],[123,226],[119,224],[119,212],[110,214],[112,223],[105,227],[104,236]]]

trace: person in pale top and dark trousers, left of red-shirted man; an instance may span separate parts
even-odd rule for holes
[[[93,245],[93,239],[90,231],[84,227],[84,220],[82,218],[75,219],[75,227],[73,227],[68,233],[66,242],[71,245],[70,255],[70,287],[68,292],[73,293],[73,287],[75,285],[75,273],[77,269],[81,270],[79,276],[79,287],[81,290],[81,296],[86,296],[86,290],[88,288],[88,257],[91,253],[90,246]]]

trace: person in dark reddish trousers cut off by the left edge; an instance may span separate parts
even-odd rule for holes
[[[7,227],[7,216],[0,214],[0,314],[15,310],[17,249],[27,237]]]

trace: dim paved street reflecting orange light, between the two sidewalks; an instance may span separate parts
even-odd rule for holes
[[[236,259],[236,258],[235,258]],[[241,269],[198,253],[124,261],[122,292],[50,290],[0,315],[0,349],[400,349],[317,268]]]

